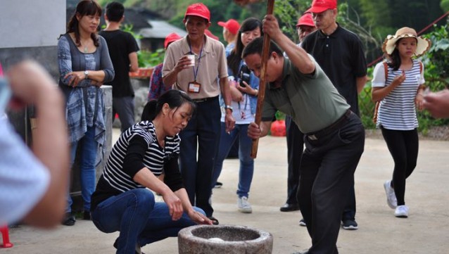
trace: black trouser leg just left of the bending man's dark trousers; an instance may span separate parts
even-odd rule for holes
[[[304,151],[304,134],[301,132],[290,115],[285,117],[287,160],[289,163],[287,177],[287,201],[291,205],[298,204],[297,193],[299,187],[299,165]]]

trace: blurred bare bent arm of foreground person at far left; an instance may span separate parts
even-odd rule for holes
[[[50,173],[48,189],[24,222],[35,227],[53,227],[61,223],[67,204],[70,170],[65,101],[54,80],[35,62],[19,63],[7,75],[15,101],[37,108],[38,127],[32,151]]]

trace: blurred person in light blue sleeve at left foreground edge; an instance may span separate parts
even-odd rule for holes
[[[39,128],[30,150],[10,122],[0,118],[0,225],[22,220],[34,227],[54,227],[63,219],[70,172],[63,95],[33,61],[13,65],[6,79],[13,99],[7,99],[8,87],[2,87],[3,106],[19,110],[34,104]]]

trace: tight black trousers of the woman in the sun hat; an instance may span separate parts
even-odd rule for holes
[[[405,179],[415,170],[419,150],[417,129],[400,131],[381,127],[388,151],[394,160],[393,186],[398,205],[405,205]]]

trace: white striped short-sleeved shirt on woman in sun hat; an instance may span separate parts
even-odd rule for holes
[[[405,70],[405,80],[395,87],[390,94],[381,100],[377,115],[377,127],[395,130],[411,130],[418,127],[415,98],[420,84],[424,84],[424,68],[422,63],[413,60],[410,70]],[[393,70],[388,67],[388,77],[385,78],[384,63],[378,63],[374,68],[372,87],[386,87],[393,82],[394,77],[402,75],[403,70]]]

